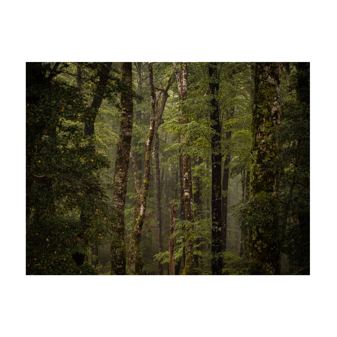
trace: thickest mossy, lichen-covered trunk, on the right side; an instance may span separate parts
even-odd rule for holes
[[[278,129],[281,121],[282,63],[255,66],[252,116],[250,201],[253,221],[249,225],[249,255],[254,274],[279,274],[278,212],[275,197],[279,188]]]

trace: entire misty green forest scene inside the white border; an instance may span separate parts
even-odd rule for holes
[[[310,275],[310,63],[27,62],[26,275]]]

